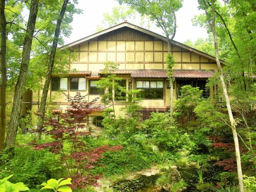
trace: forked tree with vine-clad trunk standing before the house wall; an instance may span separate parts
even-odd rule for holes
[[[118,0],[119,3],[126,3],[142,15],[150,16],[151,20],[156,22],[167,39],[168,55],[167,60],[172,60],[172,40],[176,34],[176,14],[182,7],[182,0]],[[170,116],[173,116],[173,82],[174,78],[172,62],[167,63],[168,79],[170,81]]]

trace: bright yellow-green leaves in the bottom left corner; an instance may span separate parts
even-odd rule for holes
[[[8,181],[13,175],[10,175],[2,180],[0,180],[0,191],[3,192],[19,192],[19,191],[27,191],[29,187],[27,187],[23,182],[19,183],[11,183]]]

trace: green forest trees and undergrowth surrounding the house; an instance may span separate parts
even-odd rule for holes
[[[108,61],[95,84],[101,96],[88,100],[60,89],[69,107],[56,115],[51,78],[67,76],[79,57],[65,48],[64,39],[72,33],[74,16],[86,10],[79,0],[0,0],[0,192],[256,191],[255,1],[198,0],[202,14],[191,20],[208,37],[183,44],[216,59],[218,71],[206,90],[218,90],[210,99],[199,87],[185,85],[176,100],[171,52],[176,15],[185,2],[116,2],[120,6],[104,13],[97,31],[125,19],[161,30],[167,42],[168,111],[142,121],[145,93],[124,89],[114,73],[120,65]],[[41,97],[38,110],[21,117],[27,90],[41,90]],[[115,113],[118,93],[122,116]],[[108,107],[102,110],[98,102]],[[98,111],[101,128],[93,130],[87,117]]]

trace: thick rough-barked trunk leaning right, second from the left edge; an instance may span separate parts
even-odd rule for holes
[[[25,88],[26,77],[28,74],[33,33],[35,29],[36,17],[38,12],[38,1],[39,0],[31,1],[29,19],[27,24],[27,32],[25,33],[25,38],[24,38],[22,62],[20,65],[20,71],[19,71],[17,82],[16,82],[16,86],[15,86],[11,120],[10,120],[10,124],[7,131],[5,147],[13,146],[16,139],[18,120],[20,116],[20,110],[22,108],[22,97],[23,97],[23,92]]]

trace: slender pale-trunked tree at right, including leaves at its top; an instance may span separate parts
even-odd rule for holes
[[[238,141],[238,135],[236,131],[236,122],[234,121],[231,106],[230,106],[230,99],[227,93],[226,89],[226,84],[224,81],[224,75],[222,71],[222,67],[220,64],[220,59],[219,59],[219,49],[218,49],[218,38],[217,38],[217,33],[216,33],[216,27],[215,27],[215,6],[216,6],[216,1],[211,0],[210,1],[210,6],[208,5],[208,1],[206,0],[199,0],[198,1],[200,8],[205,11],[205,14],[207,16],[207,22],[208,25],[211,29],[212,35],[214,36],[214,45],[215,45],[215,56],[216,56],[216,62],[218,66],[218,70],[220,73],[220,80],[221,80],[221,85],[223,89],[223,95],[224,99],[226,102],[226,107],[227,107],[227,112],[229,116],[229,121],[231,124],[231,129],[232,129],[232,134],[233,134],[233,139],[234,139],[234,146],[236,149],[236,159],[237,159],[237,171],[238,171],[238,179],[239,179],[239,188],[240,191],[244,191],[244,184],[243,184],[243,175],[242,175],[242,167],[241,167],[241,158],[240,158],[240,150],[239,150],[239,141]]]

